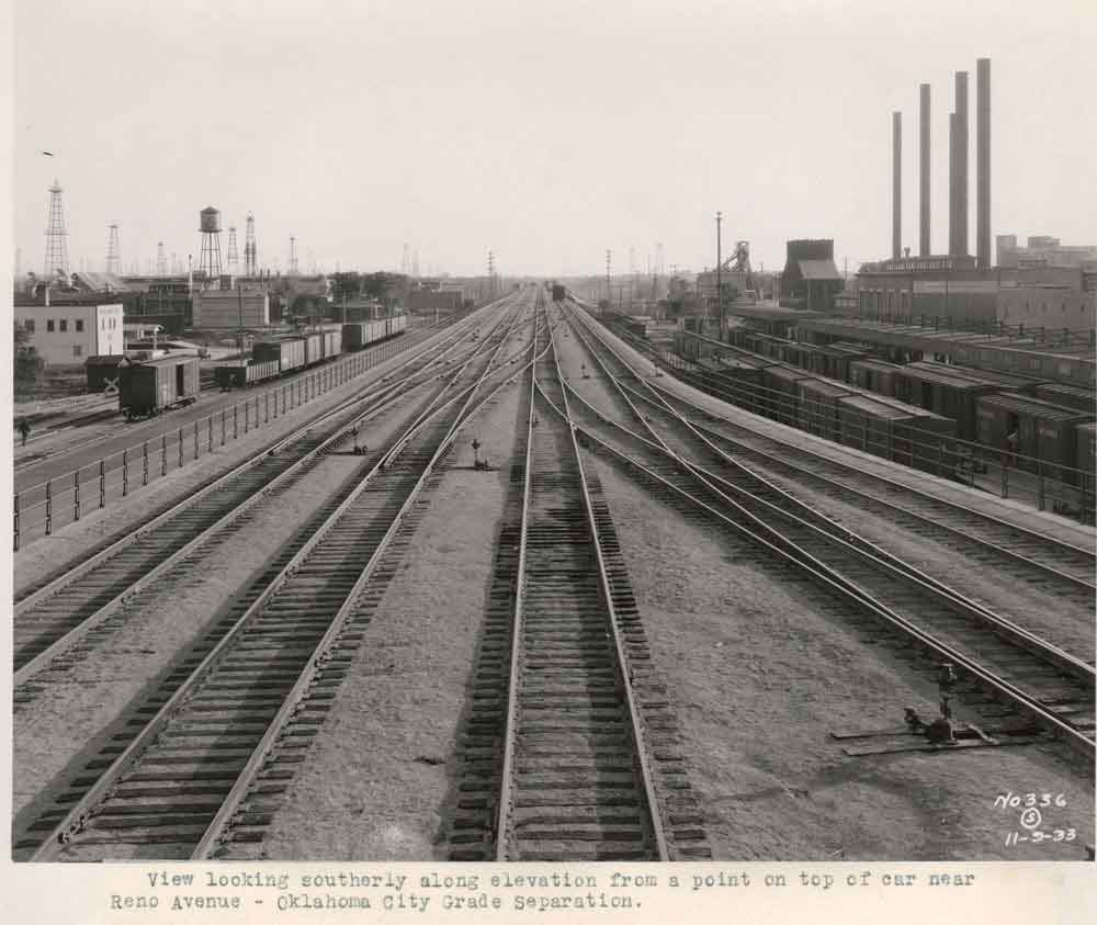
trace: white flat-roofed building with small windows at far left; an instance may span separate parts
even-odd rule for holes
[[[27,334],[47,366],[80,366],[89,357],[120,354],[123,349],[122,304],[46,300],[15,304],[15,325]]]

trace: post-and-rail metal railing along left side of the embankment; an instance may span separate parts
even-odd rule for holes
[[[417,329],[416,334],[427,329]],[[260,394],[181,427],[169,427],[132,447],[89,462],[14,494],[14,549],[35,535],[50,535],[109,499],[125,498],[150,482],[268,426],[302,405],[421,342],[409,336],[347,354],[310,372],[273,383]]]

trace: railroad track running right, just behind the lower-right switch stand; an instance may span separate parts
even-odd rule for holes
[[[973,607],[902,563],[874,555],[600,414],[575,396],[586,439],[618,462],[643,472],[664,492],[706,510],[719,522],[769,549],[874,618],[873,641],[912,641],[931,658],[957,666],[964,702],[995,715],[995,734],[1031,736],[1041,730],[1094,755],[1094,669],[1045,641]],[[882,628],[882,631],[881,631]],[[988,707],[997,700],[997,707]],[[1004,708],[1003,708],[1004,704]],[[1002,720],[1002,714],[1016,714]]]

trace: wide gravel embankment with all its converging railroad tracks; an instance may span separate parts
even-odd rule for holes
[[[16,859],[1085,856],[1092,526],[723,401],[558,284],[333,362],[24,533]],[[1036,781],[1062,836],[1008,845]]]

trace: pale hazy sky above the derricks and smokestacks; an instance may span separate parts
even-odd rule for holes
[[[917,250],[918,83],[932,84],[934,251],[947,249],[953,71],[992,58],[992,234],[1097,242],[1094,0],[15,0],[14,242],[41,271],[47,187],[69,253],[106,225],[142,269],[199,253],[199,210],[256,214],[260,262],[600,272],[655,244],[715,260],[833,237],[887,256],[891,113]],[[974,248],[974,126],[971,132]],[[39,151],[52,150],[55,158]],[[223,236],[223,255],[227,235]],[[725,245],[726,247],[726,245]]]

